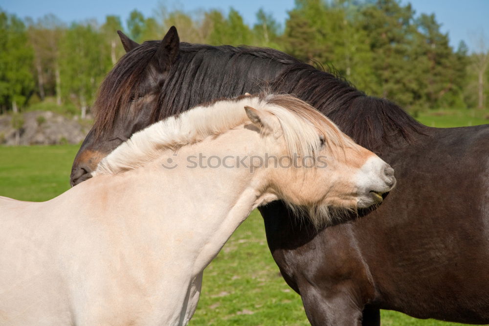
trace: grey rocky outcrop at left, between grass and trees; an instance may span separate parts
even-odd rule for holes
[[[50,111],[26,112],[22,114],[21,122],[14,122],[13,119],[10,115],[0,116],[2,145],[78,144],[89,131],[88,127],[82,127],[76,120]],[[14,125],[21,125],[18,140]]]

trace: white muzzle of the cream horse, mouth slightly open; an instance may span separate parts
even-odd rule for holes
[[[377,155],[371,156],[355,176],[358,207],[368,207],[382,201],[381,194],[396,185],[394,170]]]

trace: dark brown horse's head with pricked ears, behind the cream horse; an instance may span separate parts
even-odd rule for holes
[[[127,53],[100,87],[94,104],[95,123],[73,162],[71,186],[90,178],[101,159],[151,123],[161,85],[168,80],[170,67],[178,57],[175,27],[161,44],[152,41],[139,45],[121,31],[118,34]]]

